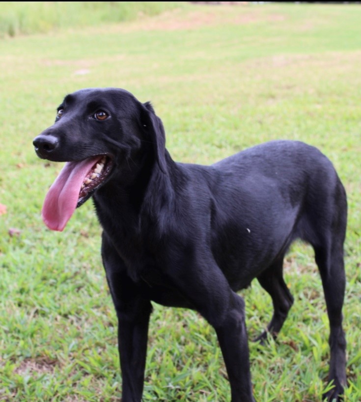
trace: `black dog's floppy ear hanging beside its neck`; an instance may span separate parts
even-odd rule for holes
[[[148,133],[153,143],[154,154],[161,171],[166,173],[166,133],[162,120],[156,116],[150,102],[143,103],[143,106],[146,109],[142,118],[143,129]]]

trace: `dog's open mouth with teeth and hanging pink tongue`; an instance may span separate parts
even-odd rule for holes
[[[112,166],[109,155],[66,162],[46,194],[42,209],[45,224],[52,230],[62,231],[75,209],[106,182]]]

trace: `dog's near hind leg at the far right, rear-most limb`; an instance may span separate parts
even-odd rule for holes
[[[312,227],[312,236],[308,240],[315,251],[330,321],[329,381],[334,388],[325,393],[323,398],[330,402],[339,402],[342,401],[346,386],[346,340],[342,329],[342,306],[346,284],[343,244],[347,201],[342,185],[338,182],[332,196],[330,194],[322,204],[313,205],[308,214],[309,227]]]

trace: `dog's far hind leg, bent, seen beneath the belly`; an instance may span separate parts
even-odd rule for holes
[[[274,313],[267,326],[267,330],[254,340],[260,341],[261,344],[266,342],[269,333],[276,339],[293,304],[293,297],[283,280],[283,257],[284,255],[280,256],[257,277],[261,286],[270,294],[274,308]]]

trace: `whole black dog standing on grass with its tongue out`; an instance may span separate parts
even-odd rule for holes
[[[330,160],[302,142],[271,141],[202,166],[174,162],[165,142],[150,102],[116,88],[68,94],[33,141],[39,157],[67,162],[44,202],[50,229],[63,230],[93,197],[118,317],[122,401],[142,398],[153,301],[194,309],[214,327],[231,401],[253,402],[236,292],[258,279],[274,306],[258,340],[276,337],[293,303],[282,262],[296,238],[314,249],[330,319],[334,387],[324,398],[341,401],[347,201]]]

